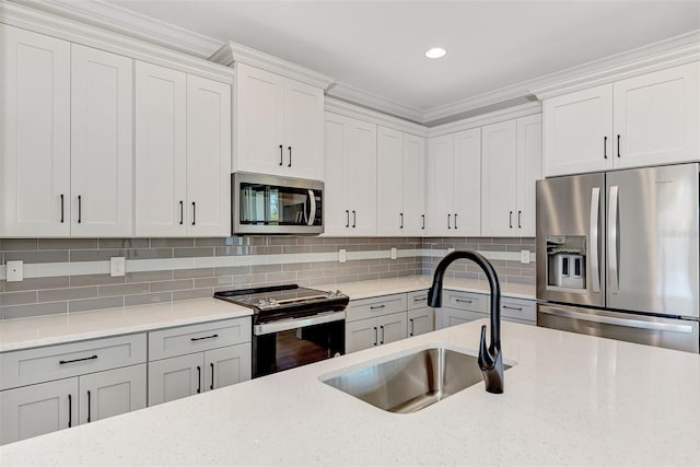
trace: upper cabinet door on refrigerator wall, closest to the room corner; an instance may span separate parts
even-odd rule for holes
[[[452,235],[454,196],[454,135],[428,140],[425,162],[427,230],[432,236]]]

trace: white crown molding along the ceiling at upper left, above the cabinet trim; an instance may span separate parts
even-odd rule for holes
[[[102,0],[9,0],[128,37],[207,59],[222,40],[137,13]]]

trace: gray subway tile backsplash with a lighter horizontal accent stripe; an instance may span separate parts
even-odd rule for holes
[[[392,247],[398,258],[389,259]],[[503,282],[535,283],[534,238],[293,237],[1,238],[0,264],[22,260],[25,279],[0,280],[2,319],[211,296],[214,291],[280,283],[330,289],[336,283],[431,275],[447,248],[490,259]],[[338,262],[339,249],[348,252]],[[124,277],[109,276],[113,256],[127,258]],[[31,277],[30,277],[31,276]],[[448,277],[483,278],[468,261]]]

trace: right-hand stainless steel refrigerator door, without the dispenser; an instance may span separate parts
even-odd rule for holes
[[[608,308],[699,316],[698,170],[608,173]]]

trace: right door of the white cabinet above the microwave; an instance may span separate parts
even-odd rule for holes
[[[324,179],[324,92],[284,80],[283,173],[299,178]]]

